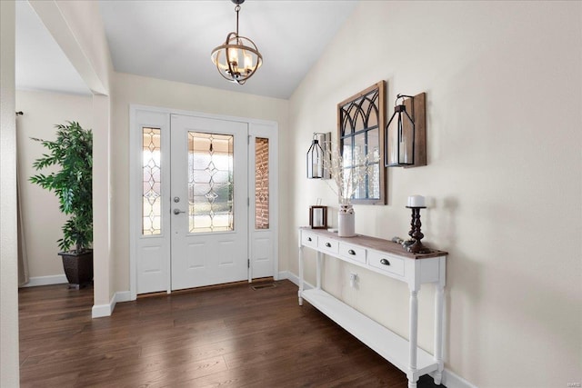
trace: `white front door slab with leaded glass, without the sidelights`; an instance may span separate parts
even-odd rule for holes
[[[248,277],[248,124],[171,115],[172,290]]]

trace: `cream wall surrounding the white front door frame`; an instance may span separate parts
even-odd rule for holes
[[[241,88],[244,91],[244,87]],[[169,82],[138,75],[115,74],[113,83],[112,170],[113,252],[115,289],[129,290],[129,105],[144,104],[176,110],[225,114],[275,121],[279,124],[279,270],[286,270],[290,186],[288,175],[288,102],[276,98],[227,92],[203,86]]]

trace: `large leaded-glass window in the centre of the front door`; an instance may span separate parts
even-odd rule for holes
[[[188,231],[227,232],[234,223],[234,136],[188,132]]]

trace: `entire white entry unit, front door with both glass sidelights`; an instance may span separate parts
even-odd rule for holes
[[[277,279],[276,123],[149,106],[130,117],[132,299]]]

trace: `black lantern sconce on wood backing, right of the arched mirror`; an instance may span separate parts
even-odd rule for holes
[[[401,98],[403,101],[398,104]],[[386,167],[426,165],[426,93],[396,96],[384,146]]]

